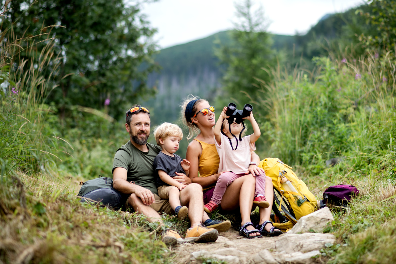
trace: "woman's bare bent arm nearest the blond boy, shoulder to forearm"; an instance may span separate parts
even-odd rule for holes
[[[191,179],[191,182],[195,182],[200,184],[202,187],[207,187],[213,185],[221,173],[216,173],[215,175],[211,175],[208,177],[198,177],[198,164],[199,158],[202,154],[202,146],[200,142],[193,140],[188,144],[186,160],[190,161],[190,173],[188,177]]]

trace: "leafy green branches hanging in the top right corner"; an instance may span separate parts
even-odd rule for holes
[[[370,0],[369,10],[359,9],[356,12],[366,18],[366,23],[372,25],[376,30],[363,32],[359,40],[364,47],[383,51],[394,51],[396,43],[396,2]]]

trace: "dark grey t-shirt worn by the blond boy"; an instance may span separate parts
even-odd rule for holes
[[[162,152],[158,153],[158,156],[155,157],[154,159],[154,173],[156,174],[157,177],[157,182],[156,186],[157,188],[162,186],[162,185],[168,185],[167,183],[163,182],[158,175],[158,170],[165,171],[166,174],[168,174],[170,177],[175,177],[176,172],[178,173],[185,173],[183,168],[181,167],[180,163],[182,159],[177,156],[176,154],[174,157],[168,156]]]

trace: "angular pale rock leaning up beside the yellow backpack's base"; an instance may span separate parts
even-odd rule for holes
[[[291,230],[286,233],[286,236],[290,234],[301,234],[312,231],[316,233],[322,233],[327,224],[333,220],[334,218],[329,208],[324,207],[318,211],[310,213],[309,215],[301,217],[297,221],[297,224],[295,224],[295,226],[293,226],[293,228],[291,228]]]

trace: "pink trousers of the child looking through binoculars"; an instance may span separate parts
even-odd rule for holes
[[[230,185],[235,179],[238,179],[244,175],[245,173],[235,174],[233,172],[225,172],[220,175],[219,179],[217,179],[215,190],[213,191],[212,201],[214,201],[216,204],[220,204],[227,186]],[[259,194],[265,195],[265,173],[256,175],[256,191],[254,196]]]

